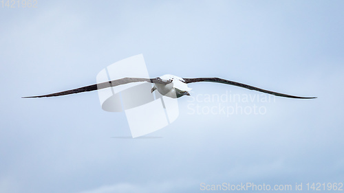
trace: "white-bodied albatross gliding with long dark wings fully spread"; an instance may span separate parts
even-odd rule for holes
[[[44,98],[44,97],[56,97],[61,95],[70,95],[74,93],[83,93],[88,91],[95,91],[99,89],[105,89],[108,87],[116,87],[122,84],[129,84],[132,82],[151,82],[153,83],[153,88],[151,89],[151,93],[153,91],[158,90],[158,92],[166,97],[169,98],[180,98],[184,95],[190,95],[191,88],[188,87],[188,84],[193,82],[217,82],[222,84],[230,84],[237,87],[242,87],[245,89],[255,90],[262,93],[268,93],[270,95],[277,95],[280,97],[285,98],[297,98],[297,99],[312,99],[316,97],[300,97],[295,95],[287,95],[283,93],[277,93],[274,91],[268,91],[265,89],[259,89],[257,87],[252,87],[248,84],[242,84],[239,82],[234,82],[230,80],[225,80],[222,78],[180,78],[178,76],[173,76],[170,74],[166,74],[164,76],[160,76],[158,78],[120,78],[118,80],[110,80],[108,82],[92,84],[86,87],[80,87],[78,89],[71,89],[67,91],[62,91],[58,93],[51,93],[47,95],[36,95],[36,96],[28,96],[22,98]]]

